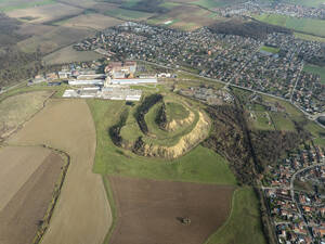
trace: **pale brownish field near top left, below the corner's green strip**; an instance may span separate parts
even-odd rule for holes
[[[46,23],[66,16],[80,14],[83,10],[62,3],[47,4],[10,11],[10,17],[21,18],[28,23]]]

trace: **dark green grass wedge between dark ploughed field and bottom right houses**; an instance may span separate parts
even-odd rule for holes
[[[266,244],[259,201],[251,188],[235,191],[230,218],[206,244]]]

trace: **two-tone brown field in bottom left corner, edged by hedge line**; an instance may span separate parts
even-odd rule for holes
[[[39,146],[0,150],[0,243],[31,243],[43,219],[63,158]]]

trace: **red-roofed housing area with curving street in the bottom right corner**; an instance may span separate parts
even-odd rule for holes
[[[324,243],[324,150],[306,145],[268,172],[262,189],[278,242]]]

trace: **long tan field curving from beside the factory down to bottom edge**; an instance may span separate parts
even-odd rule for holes
[[[9,143],[47,144],[70,155],[70,166],[42,244],[102,244],[112,216],[102,178],[92,172],[96,138],[87,103],[49,101]]]

